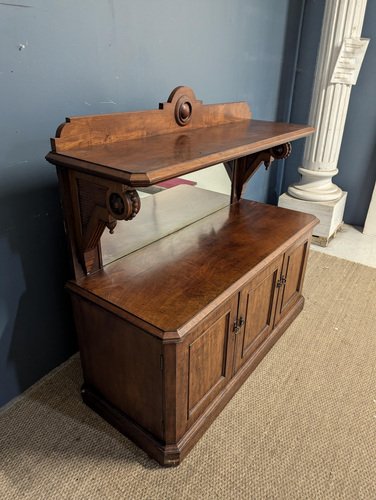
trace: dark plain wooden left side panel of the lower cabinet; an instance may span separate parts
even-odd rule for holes
[[[73,307],[86,386],[163,439],[160,343],[79,297]]]

